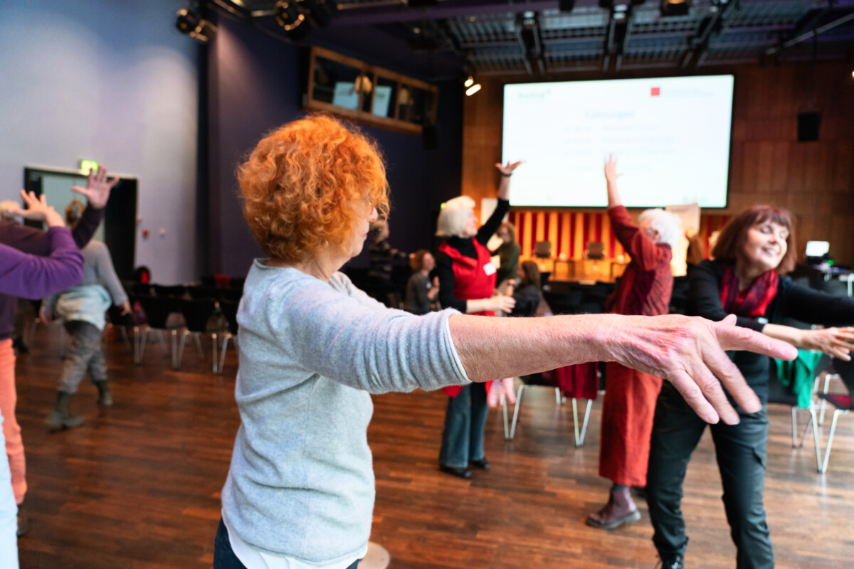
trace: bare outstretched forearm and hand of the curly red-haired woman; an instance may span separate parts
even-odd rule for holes
[[[572,363],[617,362],[670,381],[702,419],[728,424],[737,423],[739,415],[724,389],[748,413],[761,404],[725,350],[756,351],[780,359],[797,356],[793,346],[734,323],[734,316],[710,322],[679,315],[615,314],[448,319],[453,345],[472,381]]]

